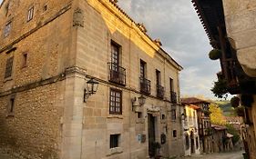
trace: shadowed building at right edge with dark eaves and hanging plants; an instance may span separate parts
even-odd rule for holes
[[[230,94],[241,94],[245,106],[245,149],[256,158],[256,25],[255,1],[192,0],[210,45],[220,51],[220,80]],[[248,148],[246,148],[248,145]]]

